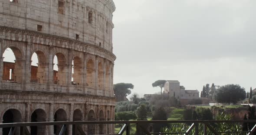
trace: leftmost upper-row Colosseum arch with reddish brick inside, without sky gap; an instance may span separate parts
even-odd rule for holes
[[[9,46],[4,49],[3,53],[1,54],[2,56],[7,51],[8,48],[10,48],[10,50],[13,52],[15,60],[14,60],[14,63],[12,63],[12,62],[4,62],[4,59],[3,59],[2,80],[21,83],[23,73],[24,73],[24,67],[25,67],[23,52],[20,50],[20,48]]]

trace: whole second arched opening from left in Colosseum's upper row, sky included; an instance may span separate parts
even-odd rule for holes
[[[34,52],[31,57],[31,82],[46,84],[47,72],[46,56],[42,51]]]

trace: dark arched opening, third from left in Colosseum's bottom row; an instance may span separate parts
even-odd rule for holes
[[[64,109],[58,109],[54,114],[54,122],[65,122],[67,121],[67,113]],[[62,125],[54,125],[54,134],[59,135]],[[67,131],[68,129],[66,129]],[[67,132],[65,132],[66,135]]]

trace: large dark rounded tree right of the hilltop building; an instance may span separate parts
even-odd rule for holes
[[[246,96],[244,95],[245,89],[240,87],[238,84],[227,84],[220,87],[217,94],[215,95],[215,100],[218,103],[237,103],[240,100],[244,100]]]

